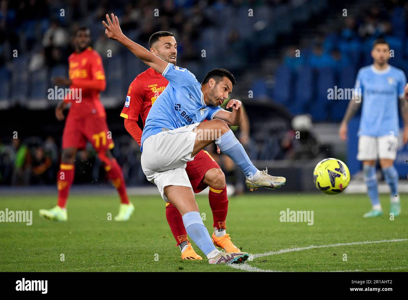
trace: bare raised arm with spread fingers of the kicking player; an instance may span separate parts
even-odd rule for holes
[[[112,40],[120,42],[127,49],[129,49],[135,56],[137,56],[137,58],[142,60],[142,62],[147,64],[149,67],[152,67],[157,72],[163,73],[168,63],[162,60],[161,58],[155,56],[153,53],[148,51],[143,46],[140,46],[139,44],[136,44],[135,42],[127,38],[120,29],[118,17],[115,16],[113,13],[111,16],[112,21],[111,18],[109,18],[109,15],[106,14],[106,20],[108,21],[108,24],[106,24],[105,21],[102,21],[102,24],[106,28],[105,29],[106,36]]]

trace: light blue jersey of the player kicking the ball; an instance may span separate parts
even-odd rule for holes
[[[143,142],[149,136],[161,131],[169,131],[188,124],[212,120],[221,107],[207,106],[201,91],[200,82],[187,69],[167,64],[162,76],[169,84],[153,103],[144,125]]]

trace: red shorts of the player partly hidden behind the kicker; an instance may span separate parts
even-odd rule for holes
[[[186,172],[194,193],[200,193],[207,187],[203,182],[204,175],[209,169],[213,168],[220,169],[220,166],[205,150],[201,150],[197,153],[194,160],[187,162]]]

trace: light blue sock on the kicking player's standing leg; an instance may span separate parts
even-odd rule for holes
[[[182,218],[187,234],[205,255],[217,249],[214,247],[213,241],[198,211],[189,211]]]

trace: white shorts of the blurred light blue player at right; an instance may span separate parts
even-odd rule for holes
[[[395,136],[360,136],[358,139],[358,160],[377,160],[397,157],[398,138]]]

